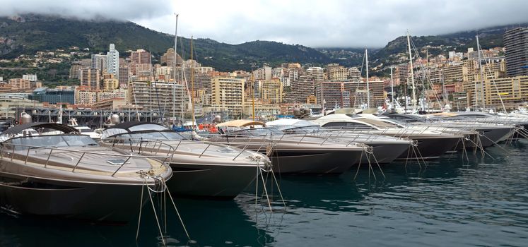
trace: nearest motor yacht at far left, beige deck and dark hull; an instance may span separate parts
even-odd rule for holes
[[[20,135],[28,129],[62,134]],[[172,175],[167,155],[101,147],[59,123],[13,126],[1,140],[0,206],[16,214],[127,222],[147,202],[146,186],[163,190]]]

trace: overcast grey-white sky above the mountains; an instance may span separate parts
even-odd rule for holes
[[[526,0],[1,0],[0,16],[54,13],[131,20],[230,44],[272,40],[310,47],[383,47],[404,35],[438,35],[528,22]]]

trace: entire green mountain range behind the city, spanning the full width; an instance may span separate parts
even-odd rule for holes
[[[526,24],[522,24],[526,26]],[[503,45],[503,32],[519,25],[504,25],[479,30],[481,46],[486,48]],[[465,51],[474,47],[476,31],[456,32],[446,35],[411,37],[413,44],[426,56],[446,54],[448,51]],[[0,17],[0,59],[11,59],[20,54],[35,54],[37,51],[54,50],[71,46],[85,48],[90,52],[106,52],[108,44],[114,43],[125,54],[130,49],[147,49],[160,58],[174,45],[174,36],[157,32],[129,21],[79,20],[59,16],[26,14],[16,17]],[[178,38],[178,52],[189,59],[190,40]],[[406,37],[397,37],[382,49],[369,49],[370,68],[383,64],[402,62],[407,50]],[[363,48],[317,48],[283,44],[271,41],[253,41],[242,44],[225,44],[210,39],[196,39],[193,43],[194,59],[204,66],[218,71],[250,70],[253,66],[282,62],[324,65],[339,63],[344,66],[360,66]],[[374,71],[375,72],[375,71]]]

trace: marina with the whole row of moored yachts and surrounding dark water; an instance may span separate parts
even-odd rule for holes
[[[1,222],[95,234],[81,246],[526,241],[523,114],[304,119],[226,121],[185,138],[114,115],[93,139],[24,114],[1,134]],[[31,245],[20,236],[30,229],[7,224],[1,246]],[[73,236],[49,244],[78,246]]]

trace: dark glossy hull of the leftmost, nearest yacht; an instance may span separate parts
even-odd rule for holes
[[[142,188],[141,181],[88,183],[0,172],[0,205],[22,215],[128,222],[139,212]]]

